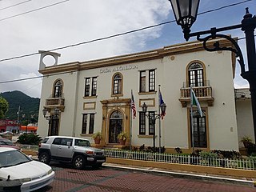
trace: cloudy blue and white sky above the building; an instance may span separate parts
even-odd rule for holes
[[[237,2],[243,3],[229,6]],[[228,7],[216,10],[222,6]],[[201,0],[198,13],[215,11],[198,15],[191,30],[239,24],[246,7],[251,14],[256,14],[256,0]],[[20,90],[30,97],[40,98],[42,78],[34,78],[42,76],[38,73],[38,50],[54,50],[169,21],[174,21],[174,14],[168,0],[0,0],[0,93]],[[222,34],[245,36],[240,29]],[[194,40],[190,38],[190,41]],[[132,54],[183,42],[186,41],[181,27],[171,22],[54,52],[61,54],[58,63],[62,64]],[[238,45],[246,61],[245,40],[239,40]],[[25,56],[27,54],[33,55]],[[22,58],[15,58],[18,56]],[[44,62],[50,66],[54,60],[46,57]],[[23,78],[32,79],[14,81]],[[234,87],[249,87],[240,76],[238,63]]]

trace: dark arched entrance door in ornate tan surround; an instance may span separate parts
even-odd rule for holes
[[[122,114],[114,111],[110,116],[109,143],[118,143],[118,134],[122,132]]]

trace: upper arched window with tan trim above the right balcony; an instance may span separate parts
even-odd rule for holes
[[[199,62],[193,62],[188,67],[189,86],[204,86],[203,66]]]

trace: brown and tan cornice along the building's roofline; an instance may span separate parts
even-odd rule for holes
[[[206,43],[207,46],[212,45],[214,40],[208,41]],[[220,39],[219,42],[222,46],[232,46],[230,42],[226,39]],[[161,49],[156,50],[149,50],[143,51],[135,54],[124,54],[116,57],[111,58],[102,58],[96,59],[86,62],[70,62],[65,64],[59,64],[54,66],[46,66],[45,69],[38,70],[41,74],[56,74],[56,73],[65,73],[65,72],[72,72],[72,71],[79,71],[79,70],[90,70],[100,67],[106,66],[116,66],[122,64],[129,64],[131,62],[142,62],[148,60],[154,60],[158,58],[164,58],[169,55],[174,54],[186,54],[191,52],[203,51],[204,48],[202,46],[202,42],[186,42],[180,43],[173,46],[164,46]],[[233,74],[235,69],[235,57],[233,54],[232,59],[232,67],[233,67]]]

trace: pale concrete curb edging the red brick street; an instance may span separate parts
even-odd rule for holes
[[[178,178],[194,178],[194,179],[209,180],[212,182],[229,182],[229,183],[238,184],[238,185],[256,186],[256,182],[254,181],[248,181],[248,180],[236,179],[236,178],[222,178],[222,177],[203,175],[203,174],[179,173],[179,172],[174,172],[169,170],[157,170],[152,167],[138,168],[138,167],[121,166],[121,165],[113,165],[113,164],[110,165],[107,163],[103,163],[102,166],[106,166],[109,168],[113,167],[115,169],[120,169],[120,170],[138,170],[138,171],[143,171],[148,173],[171,174]]]

